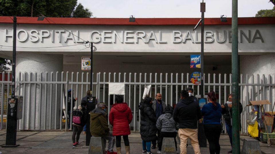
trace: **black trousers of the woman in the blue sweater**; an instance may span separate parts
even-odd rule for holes
[[[221,135],[221,124],[205,124],[204,132],[209,143],[210,154],[219,154],[221,147],[219,144],[219,139]]]

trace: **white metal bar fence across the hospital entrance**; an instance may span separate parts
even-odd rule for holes
[[[10,74],[8,73],[8,76]],[[4,73],[3,73],[4,76]],[[225,104],[227,95],[231,93],[231,74],[204,74],[204,90],[205,94],[215,91],[217,101]],[[267,80],[267,82],[266,82]],[[223,82],[222,82],[223,81]],[[114,102],[114,96],[108,95],[109,83],[124,83],[125,97],[133,112],[133,122],[131,126],[133,130],[138,130],[140,112],[138,104],[142,100],[144,86],[151,84],[150,96],[154,97],[157,92],[162,94],[162,99],[166,104],[173,106],[178,102],[180,91],[191,86],[194,89],[194,95],[200,95],[200,85],[190,83],[189,74],[152,74],[152,73],[97,73],[93,79],[93,95],[96,96],[98,102],[108,102],[111,106]],[[1,86],[1,128],[5,129],[5,110],[7,102],[4,99],[5,87],[7,92],[10,91],[11,81],[0,81]],[[250,112],[251,107],[245,107],[250,100],[269,100],[271,105],[266,105],[266,111],[271,110],[274,105],[274,81],[268,75],[243,76],[240,74],[240,101],[243,105],[241,114],[241,133],[247,133],[246,113]],[[90,89],[90,74],[74,72],[19,72],[16,80],[16,95],[23,96],[23,116],[18,120],[17,129],[19,130],[50,130],[50,129],[66,129],[62,127],[64,123],[67,125],[67,116],[63,116],[65,110],[64,102],[66,102],[66,92],[72,89],[73,96],[79,99],[75,103],[75,108],[80,104],[81,98],[86,96],[86,92]],[[9,97],[9,93],[7,93]],[[64,101],[65,100],[65,101]],[[72,102],[71,102],[72,103]],[[110,108],[108,108],[108,113]],[[66,115],[66,111],[65,115]],[[72,116],[71,116],[72,117]],[[4,120],[4,121],[3,121]],[[2,122],[3,121],[3,122]],[[64,122],[65,121],[65,122]]]

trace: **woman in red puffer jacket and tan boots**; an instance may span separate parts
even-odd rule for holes
[[[113,104],[109,114],[109,121],[113,126],[113,136],[117,140],[115,142],[117,154],[121,154],[121,135],[123,136],[126,154],[130,154],[128,135],[131,134],[129,124],[132,119],[132,111],[127,103],[123,103],[123,95],[116,95],[115,104]]]

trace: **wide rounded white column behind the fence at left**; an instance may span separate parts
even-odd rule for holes
[[[63,71],[63,55],[62,54],[41,54],[38,52],[21,52],[16,55],[16,81],[21,72],[21,81],[35,81],[35,73],[37,73],[37,81],[46,80],[46,72],[48,72],[47,81],[51,81],[51,72],[53,72],[53,81],[56,81],[56,72],[58,72],[58,81],[61,80],[61,72]],[[41,76],[42,73],[42,76]],[[60,127],[60,84],[58,84],[58,99],[57,99],[57,129]],[[39,112],[40,99],[40,85],[21,84],[20,94],[18,94],[18,85],[16,87],[16,95],[24,97],[23,119],[20,120],[19,129],[44,129],[45,104],[46,104],[46,129],[49,129],[50,124],[50,110],[51,113],[51,129],[54,129],[55,123],[55,98],[56,98],[56,84],[52,85],[52,98],[50,98],[50,84],[47,84],[47,91],[45,84],[41,87],[41,113]],[[31,88],[31,92],[29,89]],[[36,89],[36,96],[35,96]],[[46,95],[47,92],[47,95]],[[30,93],[30,94],[29,94]],[[30,97],[29,97],[30,96]],[[46,100],[46,101],[45,101]],[[50,100],[52,100],[52,108],[50,109]],[[35,116],[34,116],[35,115]],[[39,123],[39,115],[41,115],[41,122]],[[35,128],[34,128],[35,122]]]

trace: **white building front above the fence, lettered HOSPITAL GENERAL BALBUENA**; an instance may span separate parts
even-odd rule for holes
[[[272,19],[274,21],[275,18]],[[54,72],[55,79],[56,71],[86,73],[81,71],[81,57],[90,56],[91,49],[89,43],[85,46],[85,41],[94,42],[97,48],[93,52],[93,72],[186,74],[199,71],[190,68],[189,56],[201,52],[200,26],[193,31],[195,25],[173,25],[169,22],[162,25],[154,25],[153,22],[144,25],[56,25],[40,24],[40,21],[32,24],[26,20],[20,24],[18,19],[16,74],[19,71],[37,72],[38,75],[42,72]],[[0,29],[0,55],[11,59],[12,23],[1,22],[0,18]],[[242,24],[239,25],[238,31],[240,74],[270,74],[271,83],[274,83],[275,23]],[[205,74],[231,73],[231,25],[206,24],[204,41]],[[217,70],[213,70],[213,66]],[[29,77],[26,78],[28,80]],[[45,77],[42,77],[42,80],[45,80]],[[30,97],[33,101],[37,100],[33,94]],[[33,111],[30,113],[35,114]]]

